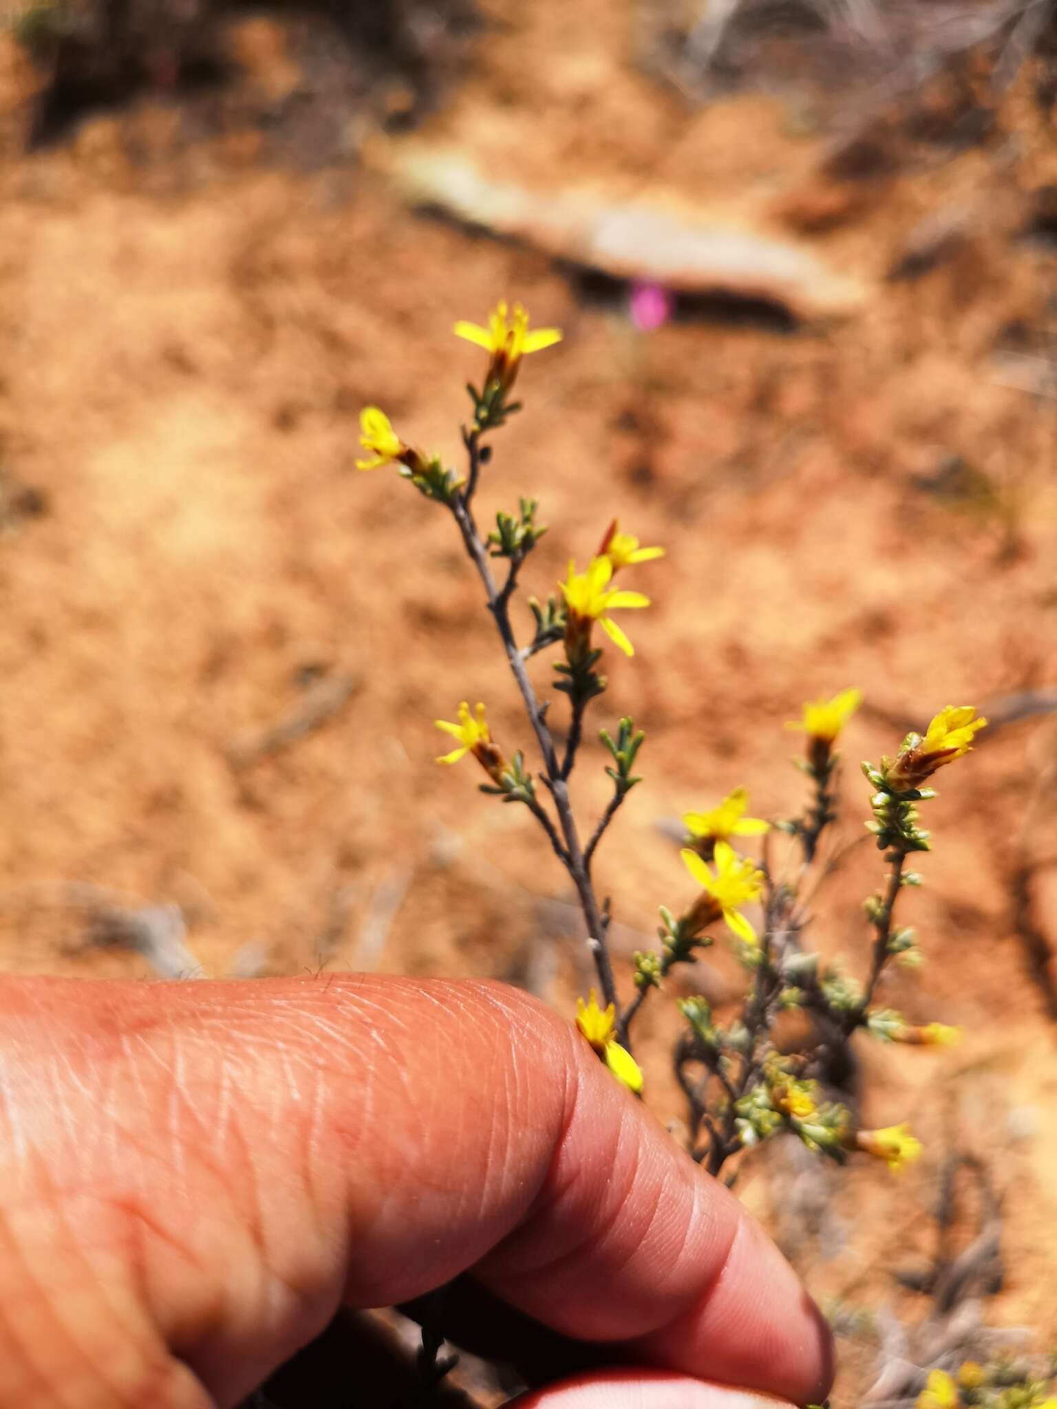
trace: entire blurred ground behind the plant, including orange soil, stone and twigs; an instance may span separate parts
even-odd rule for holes
[[[352,468],[368,402],[459,454],[479,368],[451,324],[520,297],[567,334],[483,486],[554,526],[528,589],[614,514],[668,548],[606,699],[648,735],[598,862],[619,962],[685,898],[672,817],[741,783],[796,810],[802,700],[867,697],[846,840],[858,758],[946,703],[994,721],[932,805],[925,969],[885,995],[967,1038],[861,1074],[926,1157],[892,1181],[779,1141],[741,1191],[837,1308],[834,1403],[927,1353],[937,1258],[982,1231],[956,1309],[1057,1337],[1053,0],[4,21],[3,967],[478,974],[572,1012],[578,916],[531,819],[433,766],[465,697],[530,743],[479,590],[444,516]],[[875,883],[868,848],[829,882],[853,969]],[[692,978],[736,992],[722,958]],[[671,1117],[674,1023],[640,1031]]]

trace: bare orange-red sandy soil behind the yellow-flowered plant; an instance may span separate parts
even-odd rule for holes
[[[655,906],[688,898],[657,823],[743,782],[753,813],[795,812],[803,779],[782,724],[802,700],[854,683],[872,706],[847,735],[853,837],[860,758],[948,702],[1057,683],[1057,402],[1003,385],[995,361],[1057,338],[1057,256],[1018,238],[1057,182],[1030,96],[1013,90],[985,145],[841,185],[775,97],[688,114],[633,70],[602,0],[507,10],[426,137],[476,141],[541,199],[585,175],[648,173],[705,204],[754,199],[772,231],[824,224],[815,245],[874,286],[865,309],[791,334],[713,318],[643,337],[619,297],[585,300],[530,248],[410,213],[351,159],[307,173],[272,161],[249,123],[190,138],[166,97],[8,152],[0,442],[47,510],[0,542],[4,969],[149,974],[138,955],[85,947],[83,916],[61,903],[82,882],[182,905],[209,975],[373,962],[530,981],[571,1012],[588,981],[576,913],[552,903],[569,888],[531,819],[478,796],[472,762],[433,764],[433,720],[465,697],[488,700],[500,741],[531,764],[481,590],[441,510],[390,471],[354,469],[366,402],[458,455],[462,382],[481,364],[451,324],[505,294],[565,330],[526,364],[526,410],[481,495],[485,514],[541,500],[552,528],[526,586],[552,590],[613,514],[668,548],[636,569],[654,606],[629,621],[637,655],[609,662],[596,713],[610,726],[631,713],[648,733],[647,781],[598,864],[626,992]],[[11,107],[20,63],[13,49],[0,62]],[[915,224],[951,206],[967,211],[957,245],[917,279],[885,280]],[[923,488],[947,457],[970,466],[968,490]],[[234,740],[334,669],[362,682],[345,709],[233,768]],[[545,659],[534,675],[545,689]],[[781,1162],[746,1168],[746,1200],[777,1220],[820,1298],[923,1313],[892,1272],[932,1246],[957,1138],[1005,1192],[991,1319],[1033,1326],[1040,1344],[1057,1334],[1057,1054],[1008,889],[1056,750],[1051,720],[998,730],[929,805],[927,886],[902,902],[925,965],[894,974],[884,1000],[963,1024],[965,1041],[864,1044],[867,1117],[912,1120],[922,1162],[901,1178],[865,1162],[829,1174],[829,1239],[806,1240],[781,1220]],[[602,765],[589,744],[585,817],[607,796]],[[1036,802],[1027,844],[1053,858],[1053,792]],[[819,944],[853,972],[878,881],[864,845],[817,899]],[[1034,899],[1053,941],[1051,882],[1036,878]],[[665,1119],[679,1113],[675,1027],[669,999],[651,1002],[640,1048]],[[870,1354],[848,1351],[834,1403],[855,1402]]]

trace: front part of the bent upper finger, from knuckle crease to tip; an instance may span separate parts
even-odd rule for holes
[[[576,1064],[578,1065],[578,1064]],[[500,1298],[640,1364],[820,1402],[829,1327],[786,1260],[598,1062],[533,1215],[481,1265]]]

